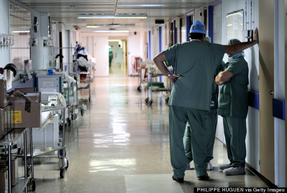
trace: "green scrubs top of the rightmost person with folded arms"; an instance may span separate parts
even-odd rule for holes
[[[231,63],[226,63],[222,70],[229,70],[233,77],[220,89],[218,114],[231,117],[247,117],[248,112],[248,64],[240,56]]]

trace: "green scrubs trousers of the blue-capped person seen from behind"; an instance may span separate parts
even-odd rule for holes
[[[203,123],[207,118],[207,111],[170,106],[169,107],[169,132],[170,132],[170,158],[174,175],[184,177],[187,158],[184,151],[183,136],[187,121],[191,127],[192,157],[197,177],[206,174],[206,143]]]

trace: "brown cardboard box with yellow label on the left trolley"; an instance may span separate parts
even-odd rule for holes
[[[39,128],[41,126],[41,95],[40,92],[24,94],[30,101],[27,103],[22,96],[8,96],[13,103],[13,128]],[[25,106],[29,107],[25,110]],[[29,111],[30,110],[30,111]]]

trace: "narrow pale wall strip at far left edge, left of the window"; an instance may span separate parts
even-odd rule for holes
[[[0,1],[0,33],[9,34],[9,1]],[[10,49],[8,46],[0,47],[0,67],[10,63]]]

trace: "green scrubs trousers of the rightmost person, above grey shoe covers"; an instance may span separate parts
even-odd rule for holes
[[[228,159],[234,167],[245,167],[246,118],[223,116]]]

